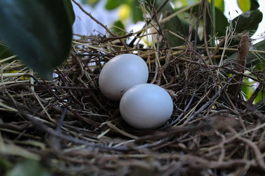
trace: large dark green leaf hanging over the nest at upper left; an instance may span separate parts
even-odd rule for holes
[[[26,65],[48,79],[70,51],[72,26],[67,2],[0,1],[0,38]]]

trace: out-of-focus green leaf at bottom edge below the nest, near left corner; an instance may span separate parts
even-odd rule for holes
[[[50,176],[51,174],[38,161],[27,159],[19,162],[6,176]]]

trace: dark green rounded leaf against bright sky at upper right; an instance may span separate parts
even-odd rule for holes
[[[238,21],[237,21],[238,20]],[[237,21],[237,24],[236,24]],[[257,10],[250,10],[242,13],[238,17],[232,20],[233,27],[236,26],[236,33],[242,33],[247,30],[250,32],[250,35],[253,35],[257,30],[259,23],[262,21],[262,12]]]

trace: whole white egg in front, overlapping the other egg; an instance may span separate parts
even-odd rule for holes
[[[173,112],[166,90],[155,84],[139,84],[127,90],[120,101],[124,121],[139,129],[155,129],[165,124]]]

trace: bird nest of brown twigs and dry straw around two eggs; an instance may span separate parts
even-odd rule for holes
[[[0,159],[41,161],[54,175],[264,173],[265,115],[257,110],[261,102],[252,104],[264,72],[244,68],[251,73],[245,74],[234,69],[234,62],[212,65],[188,39],[175,48],[159,48],[165,43],[159,37],[153,48],[126,45],[124,39],[133,35],[79,36],[68,59],[54,70],[54,81],[10,61],[13,57],[1,60]],[[219,47],[211,59],[221,57]],[[100,92],[101,68],[123,53],[142,57],[148,83],[173,99],[172,116],[158,129],[130,127],[119,102]],[[248,101],[227,92],[238,84],[232,81],[236,76],[260,85]]]

